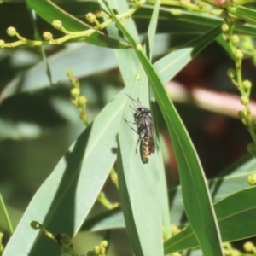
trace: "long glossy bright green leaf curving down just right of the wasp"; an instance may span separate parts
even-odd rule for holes
[[[120,30],[130,42],[132,48],[135,50],[138,59],[143,64],[143,68],[148,75],[149,82],[154,89],[156,100],[166,120],[166,125],[172,137],[172,143],[176,152],[186,212],[189,222],[200,242],[203,253],[209,256],[223,255],[221,238],[213,212],[211,197],[207,189],[203,171],[201,170],[200,161],[195,153],[195,148],[190,141],[189,135],[177,115],[176,109],[166,94],[164,84],[162,84],[154,67],[143,54],[142,47],[137,44],[131,37],[131,34],[116,18],[112,9],[109,8],[108,3],[106,1],[104,1],[104,3],[111,12],[113,20],[115,20]]]

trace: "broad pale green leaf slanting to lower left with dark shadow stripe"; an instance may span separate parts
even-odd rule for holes
[[[58,245],[32,230],[32,220],[54,234],[78,232],[116,160],[124,97],[125,90],[98,114],[38,189],[3,255],[57,255]]]

